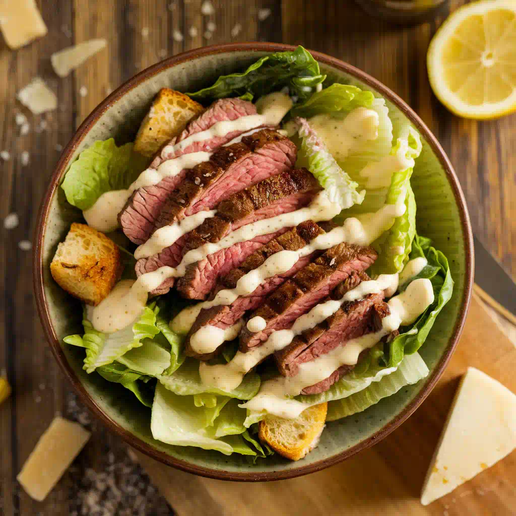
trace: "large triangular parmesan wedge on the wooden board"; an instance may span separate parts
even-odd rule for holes
[[[516,395],[469,367],[451,405],[423,485],[428,505],[516,448]]]

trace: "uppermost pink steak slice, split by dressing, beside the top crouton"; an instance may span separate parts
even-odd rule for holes
[[[215,151],[224,143],[242,134],[243,131],[232,131],[224,136],[215,136],[209,140],[194,142],[184,149],[174,149],[173,145],[188,136],[209,129],[217,122],[232,121],[248,115],[256,115],[256,108],[251,102],[240,99],[222,99],[214,102],[200,117],[189,122],[180,136],[173,138],[160,151],[150,168],[158,168],[164,161],[182,154]],[[187,169],[184,169],[178,175],[165,178],[156,185],[139,188],[127,201],[119,214],[119,222],[124,233],[135,244],[143,244],[152,234],[155,220],[170,194],[185,179],[186,172]]]

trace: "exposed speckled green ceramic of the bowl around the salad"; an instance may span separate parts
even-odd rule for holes
[[[155,70],[155,73],[149,74],[141,82],[133,79],[135,85],[131,88],[122,87],[128,91],[121,98],[117,99],[119,92],[115,92],[109,99],[109,103],[105,105],[102,114],[96,120],[88,122],[87,130],[72,141],[73,148],[67,162],[62,164],[59,183],[67,166],[73,162],[77,154],[91,146],[95,140],[115,137],[118,143],[123,143],[133,139],[140,120],[150,106],[154,94],[160,88],[196,90],[212,83],[220,74],[245,68],[263,54],[265,52],[249,49],[205,54],[180,62],[173,67],[164,66],[161,70]],[[328,60],[325,62],[324,57],[317,57],[320,57],[324,73],[328,73],[333,80],[356,84],[361,88],[372,90],[375,94],[380,94],[372,85],[337,68]],[[138,82],[139,84],[136,84]],[[396,105],[389,102],[389,108],[396,119],[406,120],[406,115]],[[54,351],[58,359],[65,362],[68,376],[76,383],[79,392],[83,391],[83,398],[84,393],[87,393],[90,407],[93,402],[102,412],[100,415],[104,421],[110,420],[114,424],[111,426],[118,427],[122,437],[131,440],[132,444],[155,458],[195,473],[226,478],[236,473],[240,478],[266,479],[269,475],[294,476],[318,469],[328,462],[333,462],[336,455],[346,450],[349,453],[357,450],[361,443],[370,440],[374,434],[410,406],[418,394],[425,390],[425,385],[437,380],[434,373],[442,366],[443,357],[454,341],[458,321],[467,304],[471,281],[471,257],[466,254],[466,249],[470,249],[469,239],[471,238],[467,229],[469,228],[467,215],[462,214],[461,217],[456,200],[456,186],[445,172],[442,158],[438,157],[433,146],[425,138],[423,138],[422,155],[417,160],[414,170],[413,190],[417,200],[418,232],[432,238],[434,245],[447,255],[455,281],[453,297],[440,314],[437,324],[420,351],[431,374],[422,382],[402,389],[396,395],[383,399],[360,414],[329,423],[322,433],[319,446],[301,462],[286,461],[275,455],[252,464],[237,454],[227,457],[216,451],[170,446],[155,441],[149,428],[150,410],[136,404],[132,394],[123,387],[107,382],[99,375],[88,375],[84,372],[83,351],[62,344],[64,336],[82,332],[80,305],[56,285],[49,268],[57,244],[65,237],[70,223],[82,220],[80,212],[67,204],[60,188],[54,188],[52,192],[49,209],[40,229],[43,234],[41,274],[44,303],[50,331],[55,334],[60,343],[53,344]]]

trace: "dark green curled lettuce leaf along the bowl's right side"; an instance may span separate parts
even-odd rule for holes
[[[419,256],[426,257],[430,267],[439,269],[437,274],[429,278],[433,285],[435,300],[412,326],[400,328],[400,334],[391,343],[384,345],[385,356],[383,360],[388,367],[399,365],[406,354],[415,353],[423,345],[439,312],[453,293],[454,281],[451,278],[446,256],[431,246],[429,238],[420,237],[416,234],[409,257],[412,260]]]

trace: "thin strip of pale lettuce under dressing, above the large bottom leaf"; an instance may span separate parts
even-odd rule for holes
[[[180,396],[212,393],[230,398],[251,399],[260,389],[260,376],[254,372],[247,373],[242,383],[231,392],[206,387],[199,375],[199,360],[195,359],[185,360],[173,374],[158,375],[157,378],[169,391]]]

